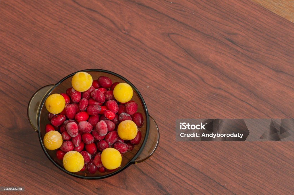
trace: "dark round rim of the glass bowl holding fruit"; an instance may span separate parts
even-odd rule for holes
[[[74,74],[76,74],[77,72],[104,72],[104,73],[108,73],[108,74],[111,74],[111,75],[114,75],[120,79],[122,79],[123,81],[125,81],[126,83],[128,83],[129,85],[131,85],[131,87],[133,88],[133,90],[138,94],[138,97],[140,98],[141,102],[142,102],[142,105],[143,105],[143,110],[144,112],[146,113],[146,134],[145,134],[145,137],[144,137],[144,140],[143,140],[143,143],[141,145],[141,147],[139,148],[139,150],[137,151],[137,153],[135,154],[135,156],[133,158],[131,158],[131,160],[125,165],[123,166],[122,168],[120,168],[119,170],[117,171],[113,171],[113,172],[110,172],[109,174],[106,174],[106,175],[102,175],[102,176],[94,176],[94,177],[88,177],[88,176],[81,176],[81,175],[77,175],[75,173],[71,173],[69,171],[67,171],[66,169],[64,169],[63,167],[61,167],[59,164],[57,164],[52,158],[51,156],[47,153],[44,145],[43,145],[43,142],[42,142],[42,138],[41,138],[41,132],[40,132],[40,116],[41,116],[41,110],[44,106],[44,103],[45,103],[45,100],[46,98],[49,96],[49,94],[52,92],[52,90],[54,90],[61,82],[63,82],[64,80],[68,79],[69,77],[73,76]],[[147,142],[147,138],[148,138],[148,135],[149,135],[149,114],[148,114],[148,110],[147,110],[147,107],[146,107],[146,104],[145,104],[145,101],[141,95],[141,93],[138,91],[138,89],[130,82],[128,81],[125,77],[115,73],[115,72],[111,72],[111,71],[108,71],[108,70],[103,70],[103,69],[85,69],[85,70],[80,70],[80,71],[76,71],[74,73],[71,73],[70,75],[67,75],[66,77],[64,77],[63,79],[61,79],[59,82],[57,82],[54,87],[52,87],[52,89],[50,89],[46,95],[44,96],[43,100],[41,101],[40,103],[40,108],[38,110],[38,115],[37,115],[37,129],[38,129],[38,136],[39,136],[39,141],[40,141],[40,144],[42,146],[42,149],[43,149],[43,152],[46,154],[46,156],[49,158],[49,160],[57,167],[59,168],[61,171],[64,171],[65,173],[71,175],[71,176],[74,176],[74,177],[78,177],[78,178],[82,178],[82,179],[103,179],[103,178],[107,178],[107,177],[111,177],[121,171],[123,171],[124,169],[126,169],[128,166],[130,166],[131,164],[134,164],[135,163],[135,160],[136,158],[138,158],[138,156],[142,153],[145,145],[146,145],[146,142]]]

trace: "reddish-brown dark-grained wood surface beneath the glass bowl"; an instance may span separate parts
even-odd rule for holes
[[[293,142],[176,142],[176,118],[294,117],[294,24],[251,1],[0,1],[0,184],[27,194],[290,194]],[[161,139],[103,180],[61,172],[26,108],[100,68],[140,90]]]

